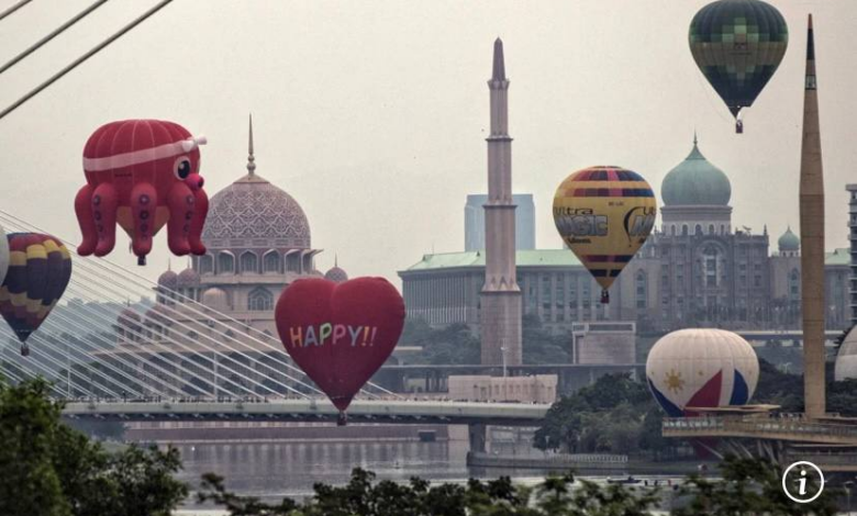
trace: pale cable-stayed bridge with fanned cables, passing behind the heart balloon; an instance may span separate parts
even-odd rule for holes
[[[52,233],[3,211],[0,224],[9,232]],[[20,356],[16,338],[0,325],[0,374],[12,382],[52,380],[52,395],[71,401],[63,414],[73,419],[336,419],[338,411],[279,339],[198,299],[110,259],[76,258],[65,300],[30,337],[30,356]],[[467,425],[471,449],[480,451],[487,425],[536,426],[547,410],[517,403],[411,401],[368,382],[348,417],[352,423]]]

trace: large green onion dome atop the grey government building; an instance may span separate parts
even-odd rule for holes
[[[699,152],[695,136],[693,150],[667,173],[660,186],[660,198],[667,206],[726,206],[730,197],[732,197],[730,179],[723,170],[711,165]]]

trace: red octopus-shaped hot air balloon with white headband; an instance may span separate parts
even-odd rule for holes
[[[152,239],[167,226],[169,250],[204,255],[202,226],[209,199],[199,175],[199,146],[179,124],[125,120],[99,127],[84,148],[87,184],[75,199],[84,242],[80,256],[108,255],[116,223],[127,233],[137,263],[146,263]]]

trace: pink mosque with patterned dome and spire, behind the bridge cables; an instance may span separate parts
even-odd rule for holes
[[[348,279],[338,265],[325,273],[315,269],[321,249],[312,247],[305,213],[291,195],[256,173],[252,121],[247,173],[212,197],[202,240],[205,255],[192,257],[180,272],[170,269],[160,274],[156,302],[145,316],[129,309],[116,321],[118,346],[111,352],[127,354],[132,360],[141,354],[160,358],[160,368],[144,367],[164,382],[174,383],[176,374],[193,379],[188,374],[193,368],[196,377],[212,380],[221,361],[212,352],[212,343],[224,340],[224,328],[231,339],[254,337],[242,339],[240,350],[220,349],[231,358],[246,362],[243,356],[265,360],[275,350],[280,354],[274,318],[280,292],[300,278]],[[186,363],[180,371],[166,359],[183,354],[200,363]],[[233,362],[232,369],[241,367]],[[254,371],[240,372],[268,382]],[[287,381],[286,377],[274,380]],[[205,389],[204,383],[199,386]]]

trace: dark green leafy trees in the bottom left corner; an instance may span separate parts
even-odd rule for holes
[[[168,516],[187,496],[178,450],[109,453],[62,423],[49,389],[0,384],[0,514]]]

